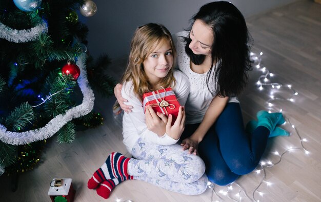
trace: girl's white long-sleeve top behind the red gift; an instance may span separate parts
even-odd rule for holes
[[[190,83],[187,76],[174,70],[174,77],[176,85],[171,85],[178,102],[181,106],[185,106],[188,93],[190,91]],[[134,144],[139,137],[147,140],[150,143],[158,145],[172,145],[177,143],[178,139],[173,139],[166,133],[159,137],[156,133],[147,129],[145,122],[145,113],[143,109],[142,98],[138,98],[133,92],[133,83],[125,82],[122,88],[122,96],[128,100],[127,105],[133,106],[132,112],[124,113],[123,116],[123,143],[125,144],[129,153],[131,153]]]

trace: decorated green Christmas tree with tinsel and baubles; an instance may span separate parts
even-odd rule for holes
[[[75,124],[91,125],[99,115],[91,87],[113,92],[110,60],[90,56],[78,10],[90,17],[97,8],[90,0],[1,0],[0,175],[31,169],[46,139],[71,143]]]

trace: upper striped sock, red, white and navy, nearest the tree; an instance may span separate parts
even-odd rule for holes
[[[103,166],[96,170],[88,180],[88,188],[94,189],[99,183],[108,179],[128,177],[127,168],[129,159],[130,158],[123,156],[121,153],[111,153]]]

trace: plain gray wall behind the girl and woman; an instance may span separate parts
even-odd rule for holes
[[[165,25],[171,33],[189,26],[189,19],[207,0],[93,0],[94,16],[80,20],[89,28],[88,50],[97,57],[107,53],[111,59],[126,57],[132,33],[146,23]],[[297,0],[234,0],[231,1],[245,17]]]

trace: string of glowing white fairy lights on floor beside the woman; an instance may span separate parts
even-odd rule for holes
[[[269,91],[269,99],[266,100],[266,106],[269,111],[271,112],[283,112],[283,109],[278,108],[276,104],[274,104],[274,100],[280,100],[284,102],[294,102],[295,96],[298,95],[298,93],[292,88],[292,85],[284,85],[282,83],[276,83],[271,82],[271,78],[274,76],[273,73],[271,73],[267,67],[263,66],[262,63],[262,55],[263,53],[260,52],[259,54],[251,52],[250,56],[251,59],[254,62],[254,69],[257,69],[258,71],[262,71],[262,75],[260,75],[257,79],[256,85],[259,91],[270,90]],[[291,95],[288,97],[282,97],[277,95],[275,93],[276,91],[279,91],[281,89],[290,91]],[[211,202],[212,201],[242,201],[243,199],[251,200],[259,202],[260,199],[263,200],[264,191],[262,191],[262,185],[271,186],[273,183],[267,180],[267,174],[266,171],[269,168],[274,167],[275,165],[279,164],[282,161],[283,156],[286,153],[289,153],[294,150],[302,150],[305,152],[305,154],[309,154],[310,152],[305,148],[304,143],[307,142],[306,138],[302,138],[302,136],[299,134],[299,131],[296,129],[296,127],[291,123],[290,117],[286,117],[286,123],[289,124],[292,129],[294,130],[294,133],[299,139],[300,147],[289,147],[284,152],[279,153],[278,151],[272,152],[275,156],[277,156],[277,160],[275,162],[271,160],[261,160],[257,168],[253,171],[260,177],[260,181],[258,185],[255,187],[255,189],[251,192],[251,196],[248,195],[246,190],[238,184],[238,180],[234,181],[233,183],[224,186],[219,187],[216,186],[213,183],[208,183],[208,187],[211,189]]]

